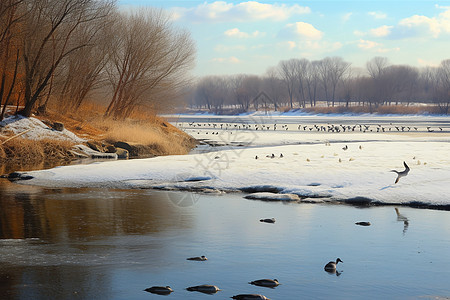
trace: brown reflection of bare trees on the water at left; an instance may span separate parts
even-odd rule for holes
[[[164,195],[107,189],[47,189],[41,193],[24,189],[8,193],[0,188],[0,238],[61,243],[188,226],[171,222],[178,218],[177,207],[167,203]]]

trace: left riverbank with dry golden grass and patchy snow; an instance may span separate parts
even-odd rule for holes
[[[126,154],[119,157],[129,158],[179,155],[195,145],[195,139],[160,117],[87,120],[54,111],[28,119],[9,116],[0,122],[0,171],[67,165],[92,155],[114,158],[119,151]]]

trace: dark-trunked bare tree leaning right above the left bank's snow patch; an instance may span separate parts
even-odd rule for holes
[[[30,12],[25,22],[23,63],[25,69],[24,101],[20,113],[30,116],[56,68],[62,60],[86,43],[75,43],[75,31],[90,22],[106,17],[103,0],[25,0]]]

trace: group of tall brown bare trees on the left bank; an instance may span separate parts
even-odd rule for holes
[[[0,120],[49,103],[74,112],[108,99],[105,116],[158,110],[190,83],[195,45],[159,9],[121,12],[114,0],[0,1]],[[167,100],[169,101],[169,100]]]

